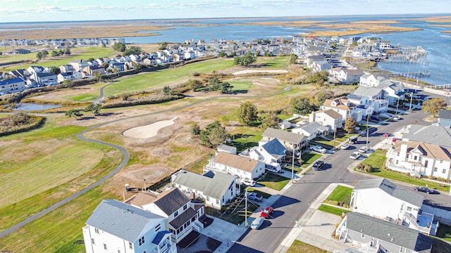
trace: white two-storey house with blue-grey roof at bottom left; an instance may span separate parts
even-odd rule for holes
[[[83,227],[87,253],[176,253],[165,218],[117,200],[102,200]]]

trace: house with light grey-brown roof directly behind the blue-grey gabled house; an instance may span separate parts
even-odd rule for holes
[[[309,139],[302,134],[295,134],[289,131],[273,129],[271,127],[268,127],[261,136],[263,141],[271,141],[276,138],[285,148],[290,149],[300,149],[309,142]]]

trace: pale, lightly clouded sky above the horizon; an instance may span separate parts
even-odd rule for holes
[[[0,22],[451,12],[450,0],[0,0]]]

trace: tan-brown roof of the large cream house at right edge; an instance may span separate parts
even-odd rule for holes
[[[451,161],[450,148],[443,148],[440,145],[430,143],[420,143],[418,141],[397,141],[395,143],[395,151],[397,153],[400,152],[402,144],[407,145],[407,153],[418,150],[425,157]]]

